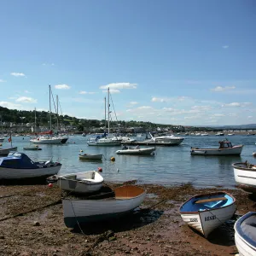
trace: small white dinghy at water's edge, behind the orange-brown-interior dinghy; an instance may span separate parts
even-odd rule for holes
[[[75,193],[92,193],[102,188],[104,179],[96,171],[77,172],[57,177],[58,186]]]

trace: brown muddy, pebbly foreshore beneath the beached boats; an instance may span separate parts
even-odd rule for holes
[[[111,188],[122,184],[108,183]],[[2,185],[0,255],[232,255],[237,253],[236,219],[256,211],[256,197],[241,189],[195,189],[190,183],[139,186],[147,196],[132,214],[72,230],[64,224],[63,194],[56,185]],[[179,207],[193,195],[217,190],[235,196],[237,210],[206,239],[183,223]]]

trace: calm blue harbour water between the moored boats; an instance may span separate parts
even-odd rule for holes
[[[228,137],[228,136],[227,136]],[[153,156],[117,155],[120,147],[88,147],[88,137],[69,137],[67,144],[40,145],[43,150],[24,151],[32,160],[57,160],[63,165],[61,173],[84,172],[102,167],[106,181],[125,182],[137,179],[139,183],[181,184],[193,183],[195,186],[221,185],[234,187],[235,179],[232,163],[248,160],[256,163],[256,136],[230,136],[233,143],[243,144],[241,156],[203,156],[190,155],[190,147],[218,147],[218,141],[225,137],[185,137],[183,143],[174,147],[157,147]],[[9,147],[5,138],[3,148]],[[30,137],[13,137],[13,146],[20,152],[29,145]],[[102,161],[79,160],[80,150],[87,154],[103,154]],[[114,156],[115,161],[110,158]]]

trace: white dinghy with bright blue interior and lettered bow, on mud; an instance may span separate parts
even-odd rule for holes
[[[183,221],[207,237],[212,230],[232,218],[236,199],[226,192],[195,195],[179,209]]]

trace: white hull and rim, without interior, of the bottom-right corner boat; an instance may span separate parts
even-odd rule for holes
[[[255,241],[254,245],[253,243],[250,243],[245,237],[242,236],[241,231],[241,222],[246,220],[247,217],[252,216],[253,212],[247,212],[247,214],[243,215],[241,218],[239,218],[236,221],[236,224],[234,226],[235,229],[235,242],[236,247],[239,252],[239,256],[254,256],[256,255],[256,246]],[[255,214],[255,212],[254,212]]]

